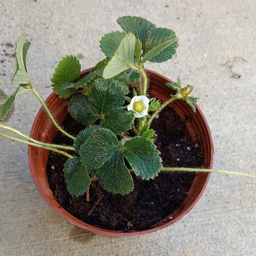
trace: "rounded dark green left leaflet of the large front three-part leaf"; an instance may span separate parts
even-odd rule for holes
[[[104,128],[93,131],[80,147],[81,160],[89,169],[100,168],[117,151],[119,146],[116,135]]]

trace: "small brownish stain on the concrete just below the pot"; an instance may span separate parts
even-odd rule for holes
[[[83,230],[82,228],[75,225],[70,228],[68,236],[70,237],[70,239],[79,244],[87,244],[96,238],[96,234],[90,231]]]

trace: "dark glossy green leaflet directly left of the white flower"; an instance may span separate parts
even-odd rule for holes
[[[88,94],[88,99],[99,114],[105,114],[124,104],[125,93],[120,84],[113,79],[97,79]]]

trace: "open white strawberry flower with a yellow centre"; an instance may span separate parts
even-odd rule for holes
[[[148,114],[149,99],[146,96],[134,96],[131,103],[127,106],[128,111],[134,111],[134,116],[137,118]]]

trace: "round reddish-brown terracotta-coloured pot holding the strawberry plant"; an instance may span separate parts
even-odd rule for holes
[[[81,72],[81,77],[89,73],[90,70],[84,70]],[[162,101],[169,99],[169,95],[174,94],[174,92],[166,87],[166,82],[172,82],[164,76],[161,76],[150,70],[146,70],[150,76],[151,83],[151,97],[157,97]],[[55,119],[62,123],[67,116],[67,102],[68,99],[60,99],[55,93],[52,93],[46,100],[47,106],[52,112]],[[186,130],[191,135],[192,140],[201,141],[201,148],[205,157],[203,167],[212,168],[213,161],[213,145],[212,138],[207,125],[206,119],[201,112],[200,108],[196,106],[196,113],[194,113],[182,100],[177,100],[171,106],[175,109],[180,118],[185,122]],[[192,118],[186,119],[186,116],[190,115]],[[49,117],[45,114],[44,110],[38,112],[35,121],[32,125],[30,136],[36,140],[51,143],[57,134],[55,126],[52,124]],[[98,233],[105,236],[137,236],[145,233],[154,232],[163,229],[176,221],[183,218],[186,213],[188,213],[198,202],[199,198],[204,192],[207,186],[210,173],[198,173],[192,185],[190,186],[188,196],[183,201],[181,206],[176,209],[172,214],[168,215],[166,218],[160,221],[157,225],[154,225],[149,230],[131,230],[130,233],[125,233],[123,231],[105,230],[99,227],[94,227],[89,224],[80,221],[75,218],[69,212],[67,212],[61,205],[56,201],[49,187],[46,173],[46,165],[49,156],[49,151],[42,148],[36,148],[29,146],[28,157],[29,157],[29,168],[32,178],[38,191],[41,193],[45,201],[55,210],[59,215],[64,217],[67,221],[81,227],[85,230],[91,231],[93,233]],[[171,218],[170,218],[171,217]]]

